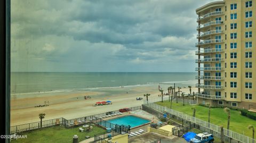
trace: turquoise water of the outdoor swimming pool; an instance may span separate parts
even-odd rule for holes
[[[122,125],[122,124],[126,125],[126,126],[131,125],[131,128],[133,128],[133,127],[137,127],[142,124],[149,123],[151,121],[147,120],[147,119],[143,119],[141,117],[127,115],[127,116],[122,116],[122,117],[118,117],[115,119],[107,120],[107,122],[110,122],[113,124],[118,124],[118,125]]]

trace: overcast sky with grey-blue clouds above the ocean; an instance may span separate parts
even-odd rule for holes
[[[195,72],[205,0],[12,0],[11,71]]]

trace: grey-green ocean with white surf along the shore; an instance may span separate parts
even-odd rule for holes
[[[121,86],[195,86],[195,72],[11,72],[11,95]],[[193,85],[191,85],[193,83]]]

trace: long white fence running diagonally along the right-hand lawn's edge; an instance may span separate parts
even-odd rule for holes
[[[190,121],[192,123],[201,125],[204,128],[207,128],[207,129],[210,129],[212,131],[220,133],[221,128],[218,125],[206,122],[206,121],[201,120],[201,119],[197,119],[196,117],[184,114],[182,112],[172,110],[170,108],[167,108],[167,107],[155,104],[155,103],[149,103],[149,104],[144,104],[144,105],[149,107],[149,108],[152,108],[153,110],[156,110],[158,112],[170,113],[172,115],[181,117],[183,120]],[[234,131],[231,131],[231,130],[227,130],[227,129],[223,129],[223,130],[224,130],[224,135],[226,137],[235,139],[235,140],[240,141],[240,142],[245,142],[245,143],[253,143],[253,142],[255,143],[256,142],[255,139],[252,139],[248,136],[244,136],[243,134],[240,134],[240,133],[237,133],[237,132],[234,132]]]

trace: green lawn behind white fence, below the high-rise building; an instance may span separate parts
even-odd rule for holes
[[[165,101],[163,103],[157,102],[156,104],[166,106],[170,108],[170,102]],[[199,105],[185,105],[182,103],[172,103],[173,110],[183,112],[188,115],[193,115],[193,110],[191,107],[196,108],[196,117],[208,121],[208,111],[209,108]],[[228,115],[223,111],[223,108],[211,108],[211,119],[210,122],[216,125],[223,125],[227,128]],[[256,127],[256,121],[249,119],[246,116],[242,116],[239,111],[230,110],[230,130],[244,134],[245,136],[252,137],[252,130],[247,129],[248,125],[252,124],[254,128]]]

